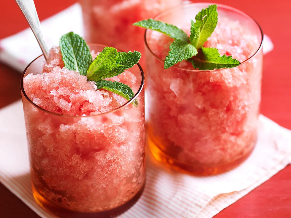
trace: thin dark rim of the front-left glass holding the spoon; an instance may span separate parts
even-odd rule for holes
[[[96,46],[101,46],[101,47],[107,47],[106,45],[102,45],[102,44],[94,44],[94,43],[88,43],[88,46],[90,45],[96,45]],[[118,51],[122,52],[121,50],[117,49]],[[38,58],[42,57],[42,55],[39,55],[37,58],[35,58],[33,61],[31,61],[27,66],[26,68],[23,70],[23,73],[21,75],[21,79],[20,79],[20,89],[21,89],[21,93],[23,94],[23,96],[26,98],[26,100],[29,101],[29,103],[31,103],[33,106],[35,106],[37,109],[40,109],[42,110],[43,112],[45,113],[48,113],[48,114],[52,114],[52,115],[57,115],[57,116],[60,116],[60,117],[95,117],[95,116],[100,116],[100,115],[104,115],[104,114],[110,114],[110,113],[113,113],[113,112],[116,112],[118,110],[121,110],[122,108],[126,107],[127,105],[131,104],[136,98],[137,96],[140,95],[140,93],[142,92],[143,90],[143,87],[144,87],[144,83],[145,83],[145,75],[143,73],[143,69],[142,67],[140,66],[139,63],[137,63],[137,66],[140,70],[140,74],[141,74],[141,83],[140,83],[140,86],[139,86],[139,89],[137,90],[137,92],[135,93],[135,95],[133,96],[133,98],[130,100],[130,101],[127,101],[125,104],[121,105],[120,107],[116,108],[116,109],[113,109],[111,111],[108,111],[108,112],[105,112],[105,113],[101,113],[101,114],[94,114],[94,115],[86,115],[86,116],[82,116],[82,115],[64,115],[64,114],[57,114],[57,113],[54,113],[54,112],[50,112],[46,109],[43,109],[42,107],[38,106],[37,104],[35,104],[25,93],[25,90],[24,90],[24,87],[23,87],[23,79],[24,79],[24,74],[26,73],[27,69],[29,68],[29,66],[31,66],[32,63],[34,63],[34,61],[36,61]]]

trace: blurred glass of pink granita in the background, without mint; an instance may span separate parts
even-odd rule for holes
[[[153,18],[161,11],[181,4],[181,0],[81,0],[85,39],[124,51],[144,53],[145,30],[132,26]],[[144,66],[144,58],[141,59]]]

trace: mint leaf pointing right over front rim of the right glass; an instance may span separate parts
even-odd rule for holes
[[[216,48],[201,48],[202,52],[198,52],[198,55],[188,59],[193,64],[194,68],[200,70],[213,70],[221,68],[233,68],[241,63],[233,59],[232,56],[221,56]]]

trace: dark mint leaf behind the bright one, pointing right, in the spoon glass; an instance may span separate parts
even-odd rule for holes
[[[133,67],[135,64],[138,63],[140,60],[141,53],[134,51],[134,52],[118,52],[116,64],[113,69],[110,71],[110,74],[113,76],[117,76],[124,72],[125,69],[129,69]]]

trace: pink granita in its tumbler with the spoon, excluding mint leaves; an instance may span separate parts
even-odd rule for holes
[[[98,53],[103,48],[90,46]],[[22,82],[34,197],[61,217],[122,213],[145,184],[142,71],[135,65],[110,78],[137,93],[136,107],[64,68],[59,47],[43,61],[32,62]]]

